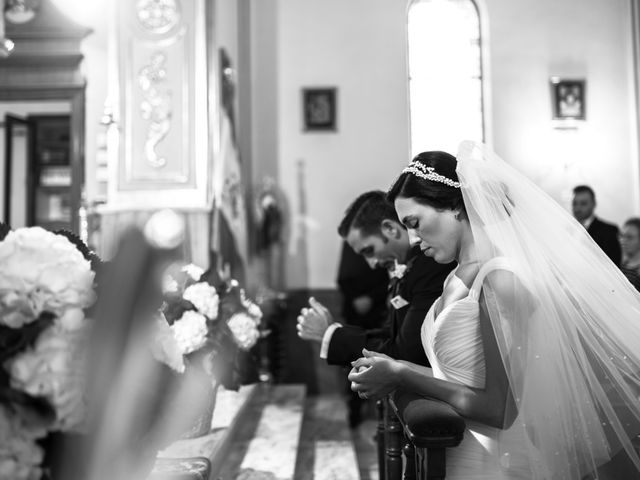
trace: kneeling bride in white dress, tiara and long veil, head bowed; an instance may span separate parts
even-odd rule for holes
[[[584,228],[472,142],[419,154],[388,195],[424,254],[458,267],[422,327],[431,368],[364,351],[352,388],[462,415],[448,479],[640,478],[640,295]]]

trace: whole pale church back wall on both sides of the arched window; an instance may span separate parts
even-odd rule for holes
[[[566,207],[571,188],[584,182],[596,189],[603,218],[620,223],[637,214],[628,2],[480,6],[488,14],[488,140],[497,152]],[[268,40],[252,43],[252,109],[261,112],[254,159],[264,146],[271,163],[261,174],[276,174],[289,202],[288,286],[331,288],[344,207],[364,190],[387,188],[409,159],[406,3],[255,0],[252,7],[252,33]],[[264,22],[256,15],[269,10]],[[576,129],[554,128],[551,75],[587,81],[587,121]],[[312,86],[338,88],[334,133],[302,131],[301,88]]]

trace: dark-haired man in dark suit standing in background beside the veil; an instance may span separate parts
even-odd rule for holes
[[[604,222],[595,216],[596,194],[587,185],[578,185],[573,189],[573,216],[584,228],[591,238],[607,254],[613,263],[620,265],[622,251],[620,249],[618,227]]]

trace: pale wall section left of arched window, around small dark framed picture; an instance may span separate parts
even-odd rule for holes
[[[335,286],[336,228],[356,195],[409,156],[405,8],[396,0],[278,2],[278,167],[290,202],[289,287]],[[301,89],[336,87],[336,132],[304,132]]]

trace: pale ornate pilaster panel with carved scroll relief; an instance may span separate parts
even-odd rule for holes
[[[109,194],[102,210],[103,230],[120,230],[125,219],[160,208],[200,217],[191,250],[193,260],[205,264],[213,201],[210,112],[216,111],[208,73],[211,8],[205,0],[118,0]],[[102,250],[108,255],[111,248]]]

